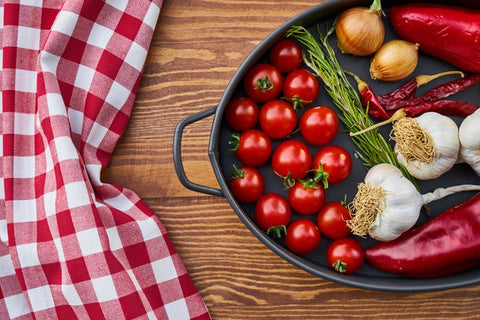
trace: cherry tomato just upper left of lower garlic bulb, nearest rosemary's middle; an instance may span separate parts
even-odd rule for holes
[[[318,150],[313,157],[313,169],[318,173],[326,172],[329,184],[339,183],[352,172],[352,157],[346,149],[337,145],[328,145]]]

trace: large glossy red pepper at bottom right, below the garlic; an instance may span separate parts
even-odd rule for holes
[[[435,278],[480,266],[480,193],[399,238],[366,250],[374,267]]]

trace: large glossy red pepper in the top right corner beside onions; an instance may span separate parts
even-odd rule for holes
[[[480,10],[428,3],[394,6],[390,23],[403,39],[457,68],[480,72]]]

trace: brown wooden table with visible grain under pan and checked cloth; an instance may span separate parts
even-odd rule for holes
[[[317,1],[322,2],[322,1]],[[167,228],[213,319],[473,319],[480,285],[440,292],[350,288],[271,252],[222,197],[185,189],[172,160],[183,118],[216,106],[229,80],[270,32],[310,8],[306,0],[165,1],[127,131],[103,179],[138,193]],[[207,157],[212,117],[184,133],[192,181],[217,186]]]

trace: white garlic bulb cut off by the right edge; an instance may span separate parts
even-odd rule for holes
[[[463,119],[458,138],[460,157],[480,176],[480,109]]]

